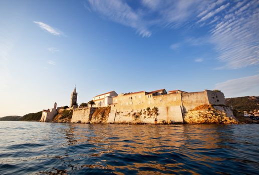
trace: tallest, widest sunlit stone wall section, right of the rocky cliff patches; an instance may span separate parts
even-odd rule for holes
[[[141,91],[118,95],[114,100],[117,103],[111,105],[108,123],[183,123],[183,114],[196,106],[225,105],[223,93],[211,90],[156,96]],[[227,107],[219,109],[233,116]]]

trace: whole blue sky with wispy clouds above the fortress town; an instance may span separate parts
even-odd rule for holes
[[[117,93],[259,95],[257,0],[2,0],[0,116]]]

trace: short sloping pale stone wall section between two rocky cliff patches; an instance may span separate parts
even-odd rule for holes
[[[94,107],[83,107],[74,109],[71,122],[90,123],[91,116],[94,110]]]

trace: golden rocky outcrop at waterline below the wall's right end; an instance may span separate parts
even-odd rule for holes
[[[222,123],[222,124],[237,124],[235,117],[227,116],[224,110],[215,109],[212,105],[204,104],[189,110],[183,114],[184,123],[187,124],[202,124],[202,123]]]

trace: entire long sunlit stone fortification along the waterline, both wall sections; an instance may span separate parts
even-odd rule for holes
[[[202,115],[203,111],[193,113],[193,109],[199,105],[213,105],[214,110],[219,113],[218,116],[225,114],[233,117],[231,109],[224,105],[223,93],[211,90],[169,93],[157,96],[141,91],[118,95],[114,100],[116,100],[116,103],[108,108],[84,107],[74,109],[71,122],[183,123],[183,118],[191,118],[192,114]],[[204,112],[206,113],[207,111]],[[93,113],[95,114],[93,115]]]

